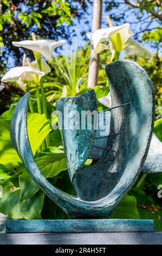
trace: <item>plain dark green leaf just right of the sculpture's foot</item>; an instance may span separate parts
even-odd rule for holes
[[[115,207],[110,218],[140,219],[135,197],[126,194],[121,202]]]

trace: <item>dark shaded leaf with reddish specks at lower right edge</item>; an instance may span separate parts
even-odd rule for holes
[[[162,229],[162,208],[155,203],[154,199],[146,194],[144,190],[139,187],[134,187],[131,192],[137,199],[138,212],[141,219],[154,220],[155,229]],[[156,210],[154,210],[156,209]]]

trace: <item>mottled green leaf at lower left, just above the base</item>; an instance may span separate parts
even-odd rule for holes
[[[1,183],[3,198],[0,198],[0,212],[14,219],[40,219],[44,193],[38,191],[33,197],[20,205],[20,188],[14,187],[9,180]]]

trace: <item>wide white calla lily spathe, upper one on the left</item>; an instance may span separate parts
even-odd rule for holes
[[[51,60],[51,53],[56,47],[62,46],[66,43],[65,40],[55,41],[55,40],[25,40],[20,42],[12,42],[14,46],[27,48],[31,51],[41,53],[48,60]]]

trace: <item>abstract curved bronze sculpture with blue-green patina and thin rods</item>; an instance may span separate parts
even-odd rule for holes
[[[69,176],[77,196],[71,196],[51,185],[37,167],[27,131],[29,93],[17,103],[11,121],[12,145],[24,166],[44,193],[72,219],[108,218],[115,206],[131,190],[142,169],[148,173],[161,172],[159,166],[156,169],[152,164],[155,157],[159,157],[154,151],[159,143],[155,136],[148,153],[154,123],[152,81],[144,69],[130,60],[107,65],[106,74],[111,90],[112,109],[111,112],[98,113],[96,122],[100,121],[101,114],[108,113],[107,135],[100,136],[99,129],[95,130],[94,119],[90,130],[64,129],[64,124],[61,130]],[[97,111],[94,90],[76,97],[61,98],[56,102],[57,110],[63,115],[65,106],[69,112]],[[60,119],[59,121],[61,122]],[[77,123],[78,119],[75,121]],[[147,154],[150,154],[148,160]],[[96,162],[92,166],[83,167],[88,158],[94,158]],[[86,221],[87,225],[89,222]],[[153,231],[153,221],[137,221],[141,229],[136,227],[132,230]],[[14,229],[11,222],[13,221],[9,221],[7,226],[9,231],[11,226],[12,231]],[[108,225],[110,223],[112,222]],[[130,223],[131,220],[127,224]],[[25,229],[27,230],[26,226]],[[92,227],[89,230],[92,231]]]

